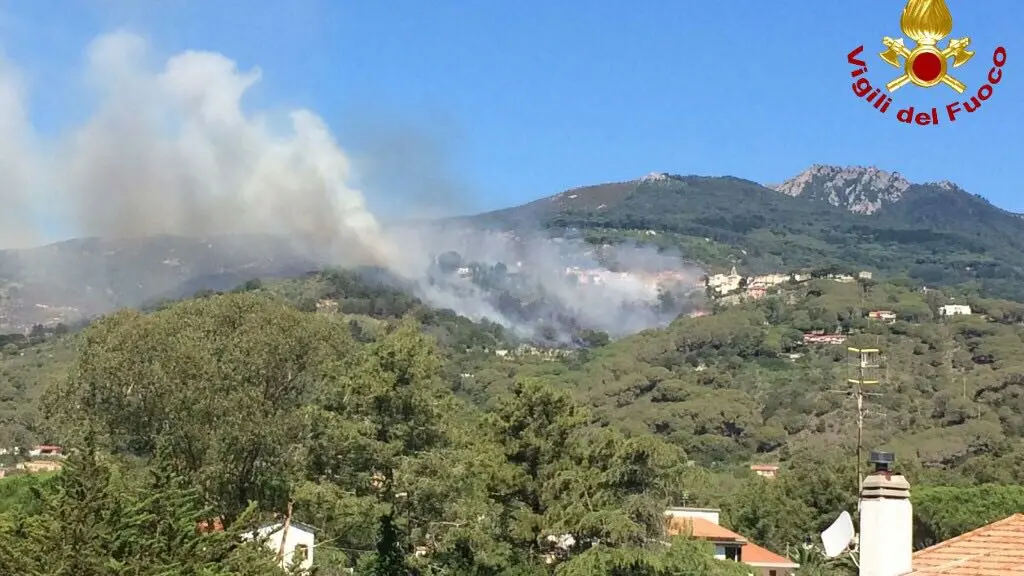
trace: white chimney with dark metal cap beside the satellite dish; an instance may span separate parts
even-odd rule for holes
[[[874,471],[860,490],[860,576],[902,576],[912,570],[910,483],[892,471],[893,455],[871,452]]]

